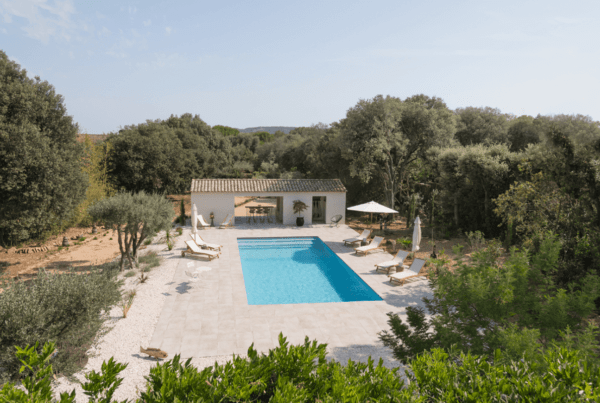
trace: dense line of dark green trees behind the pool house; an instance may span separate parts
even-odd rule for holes
[[[510,246],[560,234],[565,281],[600,264],[600,123],[588,116],[516,117],[378,95],[338,122],[287,134],[184,114],[80,143],[52,85],[4,53],[0,63],[4,245],[89,223],[87,207],[118,191],[181,194],[193,178],[339,178],[349,204],[433,212],[443,236],[482,231]]]

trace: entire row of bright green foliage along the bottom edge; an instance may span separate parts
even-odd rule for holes
[[[351,360],[346,365],[326,359],[324,344],[289,346],[283,335],[279,346],[248,358],[234,357],[224,365],[198,370],[191,360],[158,364],[146,377],[138,402],[595,402],[600,399],[598,362],[568,347],[537,353],[537,360],[512,361],[495,351],[490,359],[434,349],[419,355],[402,370]],[[20,349],[17,356],[25,391],[11,383],[0,390],[0,402],[46,403],[51,399],[50,359],[54,344],[38,354],[38,344]],[[102,372],[86,375],[82,386],[90,402],[109,403],[126,365],[111,358]],[[60,402],[73,402],[63,393]]]

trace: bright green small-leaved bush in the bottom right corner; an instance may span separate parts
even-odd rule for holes
[[[411,362],[409,378],[419,401],[426,402],[600,401],[597,361],[566,347],[538,355],[541,364],[525,359],[504,363],[499,350],[488,360],[434,349]]]

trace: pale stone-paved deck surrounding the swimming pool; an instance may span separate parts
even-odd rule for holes
[[[151,347],[168,352],[170,357],[246,354],[251,343],[258,351],[267,352],[279,345],[280,332],[291,344],[304,342],[305,336],[327,343],[330,353],[357,347],[387,350],[377,336],[379,331],[389,330],[386,313],[395,312],[405,318],[407,306],[423,305],[421,298],[432,295],[427,281],[390,285],[385,274],[375,272],[374,265],[390,260],[391,255],[374,252],[357,256],[353,248],[343,245],[344,239],[357,235],[346,225],[337,228],[245,225],[200,230],[205,241],[223,245],[221,257],[212,261],[181,257],[190,232],[191,227],[184,229],[167,257],[178,260],[177,270],[150,343]],[[237,238],[283,236],[321,238],[383,300],[248,305]],[[211,270],[203,272],[198,281],[190,281],[185,271],[197,267]]]

